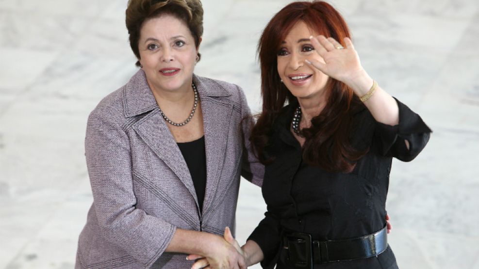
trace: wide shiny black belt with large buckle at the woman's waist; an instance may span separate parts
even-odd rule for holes
[[[363,237],[346,240],[311,240],[310,234],[286,232],[283,248],[286,263],[294,268],[313,268],[313,264],[364,259],[379,255],[386,250],[387,230]]]

